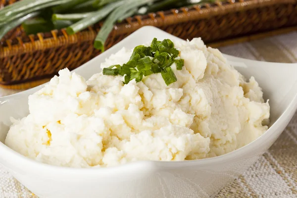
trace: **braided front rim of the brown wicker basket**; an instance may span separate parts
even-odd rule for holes
[[[146,25],[161,27],[164,25],[167,26],[176,23],[194,21],[226,13],[289,3],[297,3],[297,0],[227,0],[225,2],[216,1],[214,3],[194,5],[191,8],[182,7],[166,11],[158,11],[156,13],[148,13],[147,15],[128,17],[125,19],[125,22],[115,24],[111,34],[115,37],[132,33]],[[23,42],[21,37],[16,37],[13,40],[4,40],[0,43],[0,58],[93,41],[99,31],[99,28],[96,28],[98,25],[101,27],[102,22],[74,35],[68,35],[65,29],[61,29],[59,31],[52,30],[50,33],[38,33],[37,35],[23,36],[23,39],[27,40],[27,42]],[[48,35],[48,37],[45,37],[45,35]],[[13,41],[16,42],[16,44],[12,44]]]

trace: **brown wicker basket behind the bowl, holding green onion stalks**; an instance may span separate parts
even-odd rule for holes
[[[13,3],[14,0],[8,0]],[[0,0],[0,7],[7,0]],[[22,28],[0,41],[0,86],[27,89],[47,82],[60,69],[82,65],[100,51],[93,41],[102,24],[75,35],[65,30],[26,36]],[[182,39],[201,37],[207,43],[297,25],[297,0],[230,0],[128,18],[109,35],[106,49],[145,25]]]

